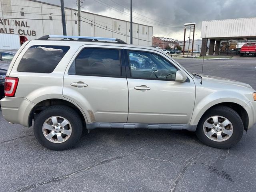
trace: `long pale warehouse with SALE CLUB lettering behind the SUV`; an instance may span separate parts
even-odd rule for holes
[[[76,1],[74,1],[75,3]],[[65,8],[67,35],[78,35],[77,10]],[[0,33],[33,40],[62,35],[60,6],[36,0],[0,0]],[[133,23],[133,44],[151,45],[153,27]],[[130,22],[81,11],[81,36],[119,38],[130,43]]]

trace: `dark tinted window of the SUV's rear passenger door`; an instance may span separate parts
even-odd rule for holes
[[[68,74],[121,76],[119,50],[86,48],[77,56]]]

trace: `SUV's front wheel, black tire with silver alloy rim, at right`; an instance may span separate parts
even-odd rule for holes
[[[242,138],[242,119],[233,109],[217,106],[206,112],[196,128],[196,136],[207,146],[227,149]]]

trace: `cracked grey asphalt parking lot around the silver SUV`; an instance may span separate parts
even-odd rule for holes
[[[202,60],[178,60],[201,73]],[[204,74],[251,84],[256,58],[205,60]],[[203,82],[204,83],[204,82]],[[255,192],[256,128],[229,150],[201,144],[174,130],[84,131],[76,148],[51,151],[32,128],[0,114],[0,191]]]

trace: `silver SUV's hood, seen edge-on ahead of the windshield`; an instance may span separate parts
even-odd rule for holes
[[[242,83],[239,81],[230,80],[230,79],[226,79],[226,78],[209,76],[209,75],[203,75],[203,80],[202,80],[203,85],[204,85],[204,82],[215,83],[217,85],[222,84],[222,85],[227,85],[227,86],[239,86],[242,88],[252,88],[252,86],[250,86],[249,84],[246,84],[246,83]]]

